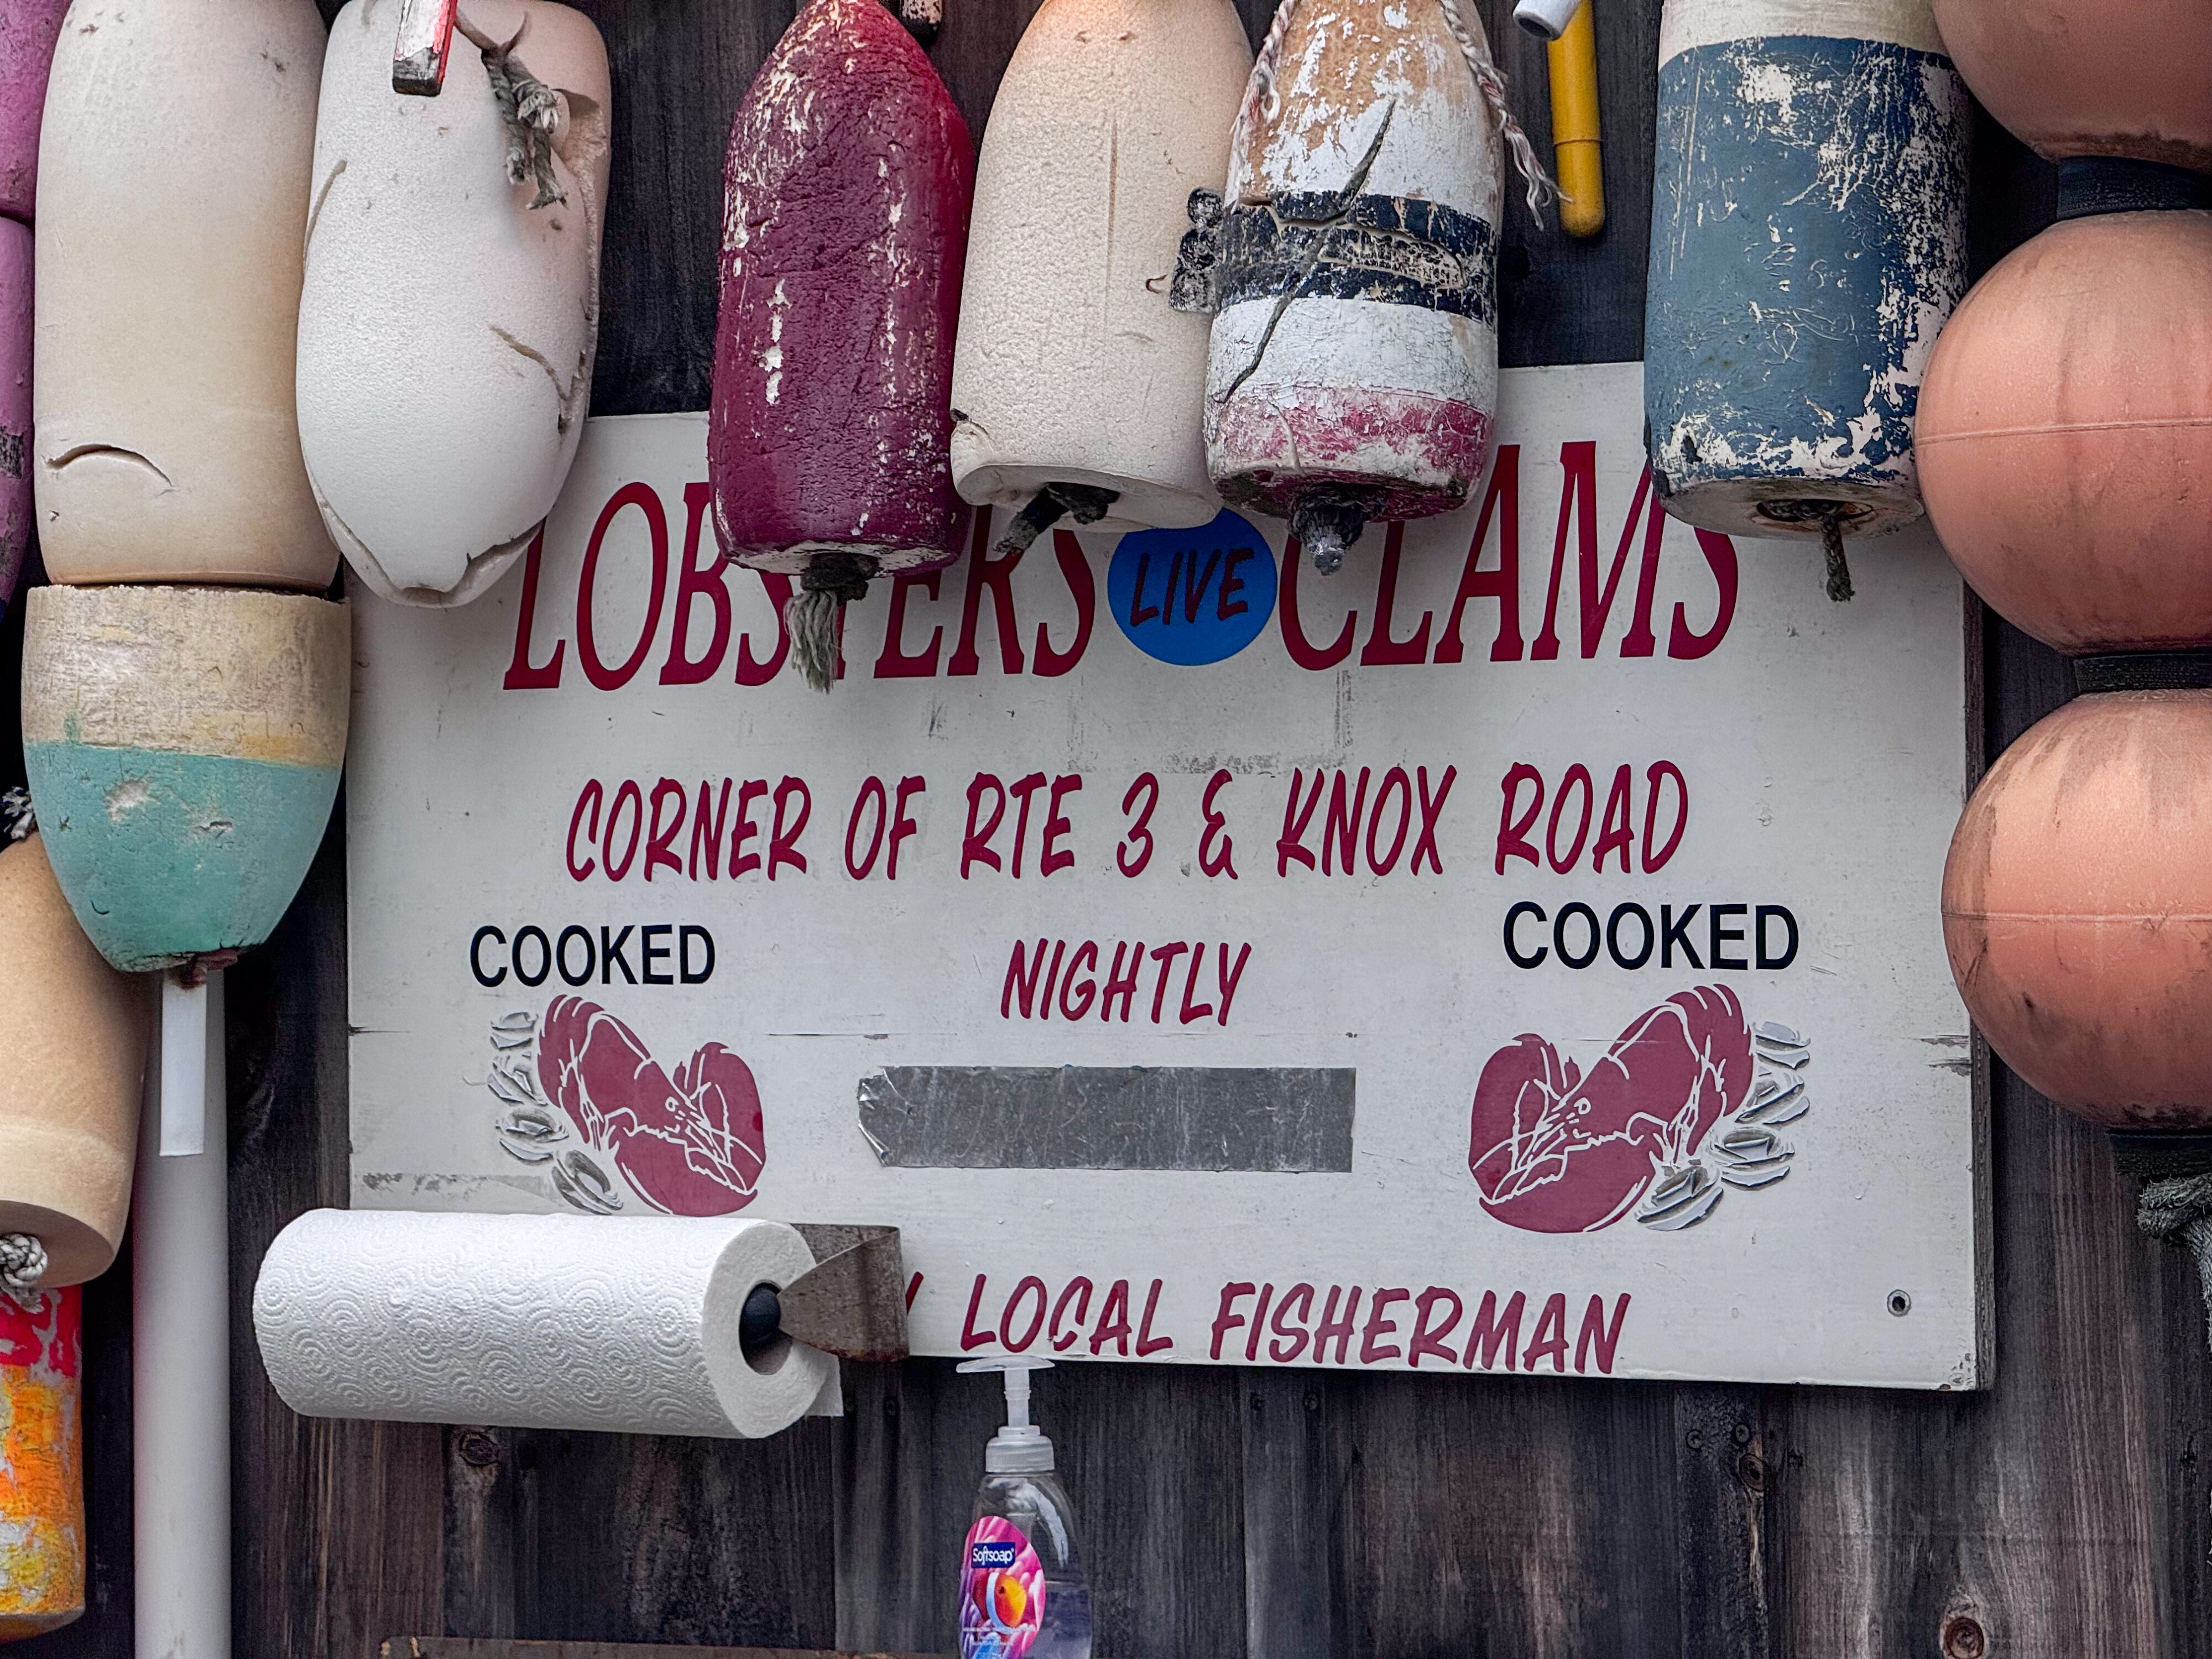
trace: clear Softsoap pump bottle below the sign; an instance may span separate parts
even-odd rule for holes
[[[960,1659],[1091,1659],[1091,1582],[1053,1442],[1029,1420],[1029,1374],[1051,1360],[969,1360],[1000,1371],[1006,1427],[982,1453],[975,1520],[960,1548]]]

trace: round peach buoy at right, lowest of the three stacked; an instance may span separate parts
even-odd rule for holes
[[[2079,697],[1966,803],[1942,878],[1969,1013],[2097,1124],[2212,1128],[2212,690]]]

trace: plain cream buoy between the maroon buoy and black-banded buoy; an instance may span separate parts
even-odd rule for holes
[[[953,487],[1020,511],[1194,529],[1208,319],[1170,305],[1192,190],[1228,177],[1252,51],[1230,0],[1044,0],[975,168],[953,352]]]

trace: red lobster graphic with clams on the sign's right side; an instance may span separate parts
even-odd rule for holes
[[[1467,1164],[1482,1208],[1531,1232],[1610,1228],[1655,1179],[1677,1181],[1752,1086],[1752,1029],[1723,987],[1681,991],[1639,1015],[1588,1077],[1544,1037],[1520,1035],[1491,1055],[1475,1084]],[[1767,1130],[1750,1135],[1772,1141]],[[1697,1194],[1708,1190],[1717,1203],[1710,1175]]]

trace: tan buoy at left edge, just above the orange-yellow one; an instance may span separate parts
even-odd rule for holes
[[[0,852],[0,1237],[42,1245],[40,1287],[80,1285],[131,1217],[150,1006],[84,938],[38,834]]]

